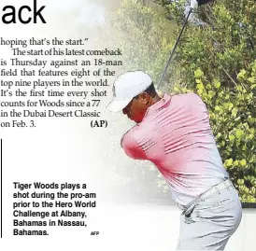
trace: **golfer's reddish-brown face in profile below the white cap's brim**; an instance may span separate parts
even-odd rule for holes
[[[143,94],[138,98],[132,99],[132,101],[122,109],[122,113],[136,123],[140,123],[148,109],[147,99],[148,98],[145,100]]]

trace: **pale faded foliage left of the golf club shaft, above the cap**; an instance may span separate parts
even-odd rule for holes
[[[123,54],[123,71],[143,69],[154,79],[160,75],[172,48],[174,22],[164,16],[162,7],[148,7],[143,1],[123,0],[117,15],[109,17],[113,26],[107,42]]]

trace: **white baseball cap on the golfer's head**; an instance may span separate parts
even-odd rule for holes
[[[107,110],[119,112],[139,93],[149,88],[151,77],[142,71],[127,72],[118,77],[113,86],[113,100]]]

